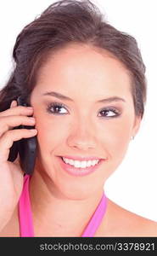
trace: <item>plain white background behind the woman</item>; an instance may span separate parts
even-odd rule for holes
[[[55,1],[0,2],[0,88],[12,70],[15,39],[25,25]],[[148,101],[137,137],[105,185],[106,195],[121,207],[157,221],[157,15],[156,0],[95,0],[106,20],[137,39],[147,67]]]

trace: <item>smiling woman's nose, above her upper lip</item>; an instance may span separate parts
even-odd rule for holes
[[[96,148],[96,131],[93,125],[87,124],[87,121],[79,122],[73,125],[72,131],[67,139],[70,148],[78,148],[81,150],[88,150],[89,148]]]

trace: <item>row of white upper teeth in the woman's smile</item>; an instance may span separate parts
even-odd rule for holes
[[[63,160],[66,164],[70,164],[71,166],[75,166],[76,168],[86,168],[89,166],[95,166],[98,164],[98,161],[99,161],[99,160],[88,160],[88,161],[70,160],[64,157],[63,157]]]

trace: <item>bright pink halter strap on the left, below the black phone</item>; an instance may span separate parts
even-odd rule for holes
[[[20,236],[34,236],[31,202],[29,197],[30,176],[25,175],[23,190],[19,201]]]

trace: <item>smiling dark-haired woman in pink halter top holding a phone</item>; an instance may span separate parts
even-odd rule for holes
[[[65,0],[25,26],[13,57],[0,94],[0,236],[157,236],[154,221],[105,195],[143,119],[136,40],[90,1]],[[19,96],[32,108],[18,106]],[[8,155],[30,137],[36,164],[24,176],[20,155],[14,162]]]

